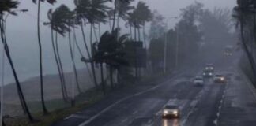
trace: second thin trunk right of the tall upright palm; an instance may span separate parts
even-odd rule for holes
[[[60,57],[59,51],[58,51],[58,33],[57,33],[57,31],[55,31],[55,45],[56,45],[56,54],[57,54],[57,59],[58,59],[58,63],[59,63],[59,68],[60,68],[60,72],[61,72],[61,75],[62,75],[64,93],[66,95],[66,98],[69,98],[69,96],[67,94],[67,91],[66,91],[66,80],[65,80],[63,67],[62,67],[62,60],[61,60],[61,57]]]

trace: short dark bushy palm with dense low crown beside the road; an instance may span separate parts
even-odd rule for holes
[[[106,63],[110,67],[110,80],[111,87],[114,88],[113,82],[113,72],[115,69],[119,69],[122,65],[128,65],[127,61],[124,58],[123,52],[123,43],[126,42],[128,35],[119,35],[119,28],[116,28],[113,32],[106,31],[100,37],[100,43],[96,49],[96,53],[93,56],[92,60],[96,63],[100,63],[101,71],[101,81],[102,89],[105,91],[104,85],[104,74],[102,70],[102,65]]]

